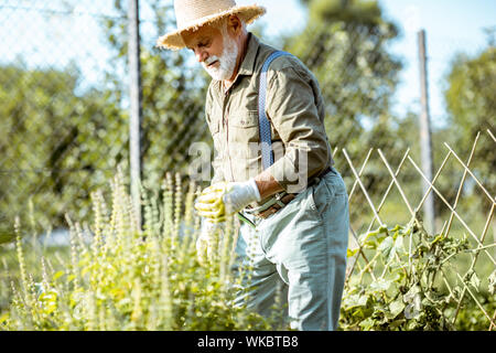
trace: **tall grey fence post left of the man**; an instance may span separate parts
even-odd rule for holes
[[[129,154],[131,197],[137,212],[138,226],[141,228],[141,121],[142,121],[142,90],[140,65],[140,32],[139,32],[139,0],[129,0],[128,8],[128,60],[129,60]]]

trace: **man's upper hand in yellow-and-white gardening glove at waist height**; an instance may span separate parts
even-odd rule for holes
[[[220,182],[202,192],[195,208],[202,217],[215,223],[225,221],[226,215],[235,214],[255,201],[260,201],[255,179],[246,182]]]

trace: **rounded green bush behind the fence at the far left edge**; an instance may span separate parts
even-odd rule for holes
[[[30,216],[30,201],[44,228],[66,212],[85,220],[89,193],[128,159],[126,115],[108,90],[76,95],[79,79],[74,65],[0,67],[0,233]]]

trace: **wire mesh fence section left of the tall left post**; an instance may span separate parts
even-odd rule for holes
[[[110,72],[125,72],[103,43],[112,15],[67,1],[0,4],[4,236],[30,202],[45,228],[67,210],[85,217],[84,200],[127,160],[122,109],[105,87]]]

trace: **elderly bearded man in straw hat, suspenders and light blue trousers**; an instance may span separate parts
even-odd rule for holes
[[[250,274],[235,303],[269,315],[279,295],[292,329],[335,330],[348,201],[314,75],[246,30],[261,7],[175,0],[174,10],[177,30],[158,45],[190,49],[213,78],[205,115],[216,157],[195,205],[204,217],[198,252],[208,250],[226,215],[238,214],[236,264]]]

